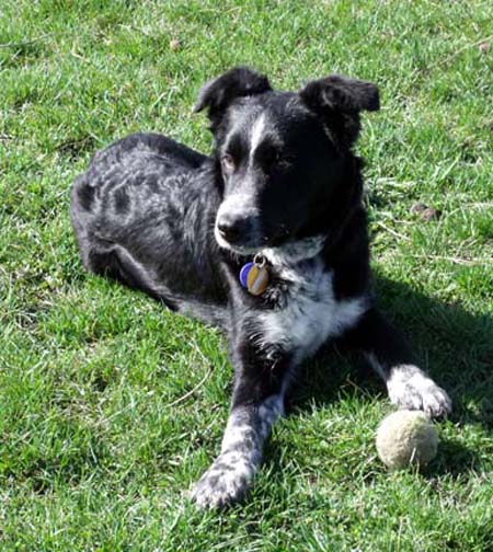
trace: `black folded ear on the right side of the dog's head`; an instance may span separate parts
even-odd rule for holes
[[[339,74],[309,82],[299,95],[305,105],[322,117],[340,145],[351,147],[357,139],[362,111],[378,111],[378,88]]]

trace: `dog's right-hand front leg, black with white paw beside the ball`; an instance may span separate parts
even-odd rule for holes
[[[400,409],[422,410],[432,417],[450,412],[448,394],[413,364],[400,332],[377,310],[369,310],[348,337],[383,379],[393,404]]]

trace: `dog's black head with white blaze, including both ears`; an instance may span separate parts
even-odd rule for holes
[[[354,185],[359,112],[378,110],[379,97],[374,84],[340,76],[277,92],[266,77],[236,68],[204,85],[195,111],[204,108],[220,168],[216,240],[248,254],[330,227]]]

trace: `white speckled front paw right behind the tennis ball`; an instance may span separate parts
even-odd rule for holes
[[[395,366],[387,382],[390,401],[400,409],[422,410],[429,417],[451,411],[447,392],[428,378],[417,366]]]

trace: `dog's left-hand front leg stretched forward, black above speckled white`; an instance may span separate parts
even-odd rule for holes
[[[221,507],[243,498],[262,461],[262,449],[274,422],[284,413],[289,370],[251,355],[236,363],[232,409],[221,451],[195,484],[192,497],[200,507]]]

